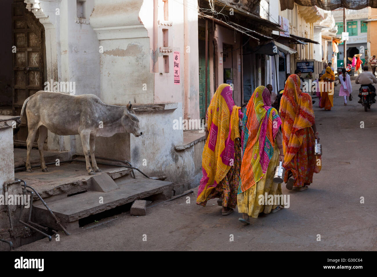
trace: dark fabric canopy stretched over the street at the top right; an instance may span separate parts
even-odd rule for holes
[[[280,9],[293,9],[294,3],[300,6],[313,7],[333,11],[338,8],[359,10],[366,7],[377,8],[377,0],[280,0]]]

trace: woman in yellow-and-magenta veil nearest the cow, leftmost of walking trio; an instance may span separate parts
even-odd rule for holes
[[[233,212],[237,204],[241,167],[241,107],[234,104],[232,89],[221,84],[207,109],[206,133],[202,155],[202,173],[196,204],[205,207],[212,198],[222,199],[222,215]]]

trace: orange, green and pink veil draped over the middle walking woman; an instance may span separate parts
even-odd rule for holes
[[[238,193],[251,188],[267,171],[274,153],[274,139],[282,123],[271,107],[270,91],[259,86],[247,103],[242,118],[242,164]]]

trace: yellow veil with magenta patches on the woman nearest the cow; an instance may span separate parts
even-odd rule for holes
[[[203,202],[234,164],[234,141],[241,138],[238,130],[241,107],[232,98],[232,89],[221,84],[207,109],[209,135],[202,155],[202,173],[196,202]]]

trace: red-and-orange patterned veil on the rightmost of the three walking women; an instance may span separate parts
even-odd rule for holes
[[[287,79],[279,112],[282,121],[285,166],[299,151],[305,134],[304,129],[315,123],[311,97],[308,93],[301,92],[300,78],[295,74]]]

